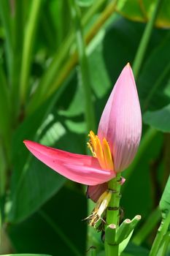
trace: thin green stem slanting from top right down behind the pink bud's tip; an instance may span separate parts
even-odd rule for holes
[[[139,69],[142,65],[142,61],[144,59],[144,55],[147,50],[147,45],[148,45],[148,42],[150,41],[150,37],[152,34],[152,29],[155,24],[155,20],[157,18],[158,12],[160,10],[160,5],[162,2],[163,2],[162,0],[156,0],[155,7],[152,12],[152,16],[148,21],[146,28],[144,29],[144,34],[142,35],[142,39],[140,41],[139,48],[137,50],[137,53],[134,59],[133,71],[134,71],[135,77],[138,77],[139,75]]]

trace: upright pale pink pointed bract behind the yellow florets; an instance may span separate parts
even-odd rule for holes
[[[127,64],[115,83],[98,126],[98,137],[109,142],[116,172],[133,161],[141,133],[139,98],[133,72]]]

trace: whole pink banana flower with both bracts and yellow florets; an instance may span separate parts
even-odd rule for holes
[[[93,157],[72,154],[30,140],[24,140],[24,143],[37,159],[57,173],[88,185],[88,196],[98,201],[94,211],[100,218],[110,199],[110,194],[106,192],[107,182],[131,164],[142,134],[139,98],[130,64],[124,67],[115,83],[102,113],[97,134],[92,131],[89,134],[88,147]],[[104,198],[107,198],[107,203]],[[93,219],[91,225],[96,222]]]

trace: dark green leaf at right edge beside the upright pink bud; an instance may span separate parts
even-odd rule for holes
[[[147,111],[144,113],[143,121],[161,132],[170,132],[170,105],[161,110]]]

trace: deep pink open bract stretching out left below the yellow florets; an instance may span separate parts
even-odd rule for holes
[[[72,154],[30,140],[24,140],[24,143],[37,159],[72,181],[96,185],[115,177],[112,170],[102,170],[98,164],[98,159],[94,157]]]

